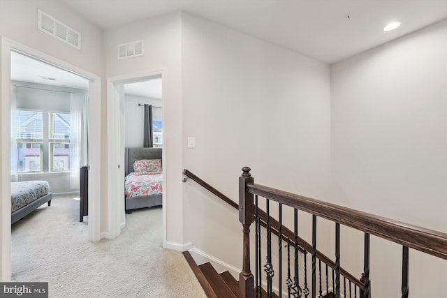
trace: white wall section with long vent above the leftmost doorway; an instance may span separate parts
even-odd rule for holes
[[[81,50],[38,30],[38,8],[80,32]],[[103,73],[101,30],[59,1],[0,0],[0,36],[11,38],[91,73]]]

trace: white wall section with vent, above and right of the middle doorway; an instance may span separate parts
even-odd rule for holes
[[[117,45],[144,40],[145,56],[117,60]],[[169,184],[163,188],[167,200],[166,240],[173,245],[184,243],[182,233],[182,80],[181,80],[181,15],[173,13],[151,20],[135,22],[104,32],[107,77],[165,70],[166,119],[163,123],[163,147]]]

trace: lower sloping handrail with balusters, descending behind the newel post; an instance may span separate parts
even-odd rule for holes
[[[237,204],[236,202],[234,202],[233,200],[228,198],[226,195],[223,195],[223,193],[218,191],[216,188],[214,188],[207,182],[203,181],[203,179],[200,179],[200,177],[197,177],[195,174],[193,174],[189,170],[185,169],[183,174],[184,174],[184,176],[195,181],[200,186],[203,186],[203,188],[207,189],[208,191],[210,191],[211,193],[216,195],[218,198],[220,198],[224,202],[230,204],[230,206],[234,207],[235,209],[242,210],[240,208],[240,204]],[[186,179],[184,179],[184,181],[186,181]],[[318,260],[318,269],[319,269],[318,270],[318,276],[319,276],[318,283],[320,283],[320,286],[319,286],[319,290],[321,292],[320,294],[322,294],[324,291],[325,294],[328,295],[329,289],[335,288],[334,285],[329,284],[328,276],[330,275],[330,273],[332,274],[332,276],[334,276],[334,272],[337,269],[337,264],[334,261],[332,261],[330,258],[328,258],[326,255],[321,253],[321,251],[318,251],[317,249],[313,249],[312,244],[309,244],[307,241],[305,241],[304,239],[299,237],[298,234],[295,235],[295,232],[289,230],[286,226],[284,226],[281,221],[281,215],[279,215],[279,221],[277,221],[273,216],[270,216],[270,214],[267,214],[261,208],[258,208],[257,204],[253,208],[254,208],[253,209],[254,212],[251,215],[250,223],[252,223],[254,221],[256,221],[256,223],[257,223],[257,225],[256,225],[257,234],[256,234],[256,242],[255,242],[255,246],[256,246],[256,248],[255,248],[256,274],[255,275],[257,276],[257,278],[256,278],[256,281],[252,282],[253,284],[251,284],[249,282],[247,283],[247,279],[250,278],[250,274],[248,273],[248,271],[244,271],[244,268],[246,270],[249,270],[249,259],[248,259],[248,263],[245,263],[245,265],[243,265],[243,269],[242,269],[242,273],[241,273],[242,276],[240,276],[240,286],[242,286],[242,284],[244,286],[244,288],[242,289],[242,292],[245,292],[247,289],[248,292],[256,292],[256,296],[242,295],[242,297],[261,297],[261,286],[262,286],[261,285],[261,283],[262,283],[261,268],[263,267],[262,260],[261,260],[261,258],[262,258],[261,245],[259,245],[259,242],[261,241],[261,239],[259,238],[259,236],[261,235],[261,226],[266,229],[269,227],[268,230],[270,232],[268,234],[272,233],[275,236],[279,237],[279,240],[278,240],[279,249],[281,250],[284,246],[284,248],[286,248],[286,250],[288,251],[288,262],[286,262],[287,264],[290,264],[290,262],[291,262],[291,255],[290,255],[291,248],[293,249],[293,256],[292,256],[293,259],[295,258],[295,256],[294,256],[295,251],[297,251],[297,253],[299,252],[302,255],[304,255],[305,267],[307,267],[307,258],[308,258],[307,256],[308,255],[312,255],[312,258],[315,259],[315,262],[316,262],[316,260]],[[244,208],[244,210],[247,210],[247,208]],[[249,217],[250,217],[250,215],[249,215]],[[247,219],[247,222],[250,221],[250,218],[246,218],[246,219]],[[249,251],[249,250],[247,250],[247,251]],[[279,255],[281,255],[281,254],[279,254]],[[296,256],[296,258],[298,258],[298,255]],[[246,258],[244,258],[244,260],[246,260]],[[325,289],[324,290],[321,285],[321,283],[322,283],[321,264],[322,263],[324,266],[323,272],[325,272],[325,287],[324,287]],[[281,267],[281,265],[282,265],[282,262],[279,262],[280,267]],[[248,269],[246,268],[247,266],[248,266]],[[353,297],[357,297],[357,292],[358,292],[358,295],[360,295],[360,293],[362,292],[363,287],[364,287],[363,281],[361,279],[356,278],[355,276],[353,276],[351,273],[349,273],[342,267],[338,267],[337,270],[339,271],[339,275],[342,276],[344,283],[349,284],[349,289],[351,289],[350,292],[352,292],[353,294],[355,293],[355,296],[353,296]],[[279,271],[281,272],[281,270],[279,270]],[[307,274],[307,271],[308,271],[307,268],[305,268],[305,275]],[[242,283],[242,281],[244,281],[244,282]],[[289,281],[289,283],[292,282],[290,278],[288,278],[288,281]],[[334,278],[332,278],[331,281],[334,281]],[[273,292],[272,289],[273,289],[272,285],[270,285],[267,290],[270,292]],[[305,289],[307,289],[307,276],[306,276],[306,282],[305,282]],[[281,292],[281,290],[282,290],[281,283],[279,283],[278,292]],[[309,289],[307,289],[307,291],[308,290]],[[304,291],[304,293],[306,293],[306,290]],[[307,295],[305,295],[305,297],[308,297],[308,295],[309,295],[309,293]],[[321,297],[323,297],[323,295],[321,295]]]

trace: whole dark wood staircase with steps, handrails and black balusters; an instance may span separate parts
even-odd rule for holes
[[[447,260],[446,233],[255,184],[250,170],[249,167],[243,167],[242,175],[239,177],[239,204],[189,170],[184,170],[186,177],[196,181],[200,186],[237,209],[239,221],[242,223],[243,260],[240,281],[236,281],[228,271],[218,274],[210,263],[197,265],[189,252],[184,252],[184,257],[196,274],[207,297],[276,298],[278,296],[273,293],[272,286],[273,283],[277,283],[277,291],[281,293],[287,290],[288,297],[291,295],[293,297],[312,295],[311,297],[314,298],[357,297],[358,293],[358,297],[371,298],[372,287],[369,280],[371,235],[402,245],[402,298],[409,297],[410,248]],[[258,208],[258,197],[265,200],[265,211]],[[270,216],[270,204],[277,205],[278,220]],[[283,207],[293,210],[293,231],[282,223]],[[312,244],[307,243],[298,235],[298,213],[312,215]],[[335,261],[317,249],[318,218],[325,218],[326,221],[332,221],[335,225]],[[251,224],[254,224],[254,237],[252,238],[250,238]],[[360,280],[340,267],[340,228],[342,225],[364,233],[364,272]],[[266,230],[266,237],[262,241],[263,246],[261,246],[261,227]],[[256,277],[250,269],[250,240],[254,242],[255,246],[253,267]],[[274,243],[279,243],[277,248],[274,248],[276,246]],[[283,247],[286,249],[282,249]],[[279,256],[279,260],[275,264],[272,264],[273,249],[277,249]],[[304,274],[300,274],[303,263],[298,261],[300,253],[304,254],[302,255]],[[283,272],[282,265],[286,266],[287,276],[281,274]],[[263,271],[265,274],[261,278]],[[274,275],[275,271],[279,273],[277,276]]]

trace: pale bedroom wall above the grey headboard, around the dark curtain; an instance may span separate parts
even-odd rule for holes
[[[124,94],[124,145],[125,147],[143,147],[144,108],[138,104],[153,105],[152,118],[162,120],[161,98],[149,98],[133,94]]]

